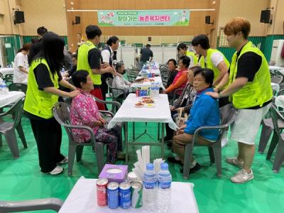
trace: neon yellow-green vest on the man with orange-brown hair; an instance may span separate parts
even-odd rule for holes
[[[256,48],[251,41],[246,43],[241,49],[239,57],[234,53],[231,59],[229,84],[236,79],[238,70],[238,60],[244,53],[253,52],[260,55],[262,58],[261,67],[253,78],[253,82],[247,82],[238,92],[231,95],[230,101],[233,102],[236,109],[244,109],[256,106],[263,106],[263,103],[268,102],[273,97],[271,88],[271,75],[269,72],[268,62],[261,50]],[[249,72],[249,70],[247,71]]]

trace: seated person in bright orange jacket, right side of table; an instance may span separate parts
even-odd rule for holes
[[[169,100],[173,99],[173,93],[175,92],[175,89],[185,88],[185,85],[187,84],[187,71],[189,65],[190,58],[185,55],[182,56],[178,61],[178,66],[180,67],[180,70],[178,70],[178,74],[175,75],[175,79],[173,80],[173,83],[170,84],[170,87],[168,87],[164,91],[165,94],[168,94]],[[180,96],[180,94],[182,94],[182,91],[178,91],[177,94]]]

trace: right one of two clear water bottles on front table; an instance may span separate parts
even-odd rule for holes
[[[158,173],[158,212],[170,212],[170,185],[172,182],[172,175],[168,170],[168,163],[160,165],[160,172]]]

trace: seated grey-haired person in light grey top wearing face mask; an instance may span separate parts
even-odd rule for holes
[[[125,70],[125,65],[123,62],[118,62],[116,64],[116,72],[117,72],[117,75],[114,76],[114,80],[112,81],[112,87],[116,89],[114,89],[112,92],[114,94],[114,97],[123,98],[124,92],[126,96],[129,94],[129,89],[131,85],[131,82],[124,79],[124,74],[126,70]],[[121,90],[117,90],[117,89],[124,89],[124,92],[122,92]]]

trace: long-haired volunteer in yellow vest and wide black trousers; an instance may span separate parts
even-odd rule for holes
[[[75,97],[80,92],[58,89],[59,84],[76,89],[60,75],[64,40],[48,32],[43,35],[41,43],[39,52],[33,52],[29,58],[28,90],[23,109],[31,120],[41,172],[58,175],[63,171],[59,164],[68,163],[68,158],[60,153],[62,131],[53,117],[53,105],[58,102],[58,97]]]

